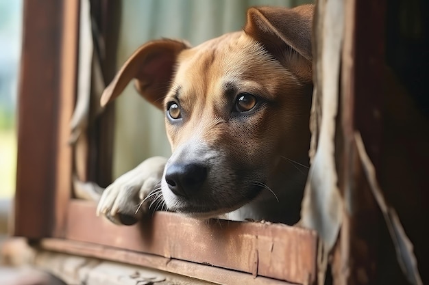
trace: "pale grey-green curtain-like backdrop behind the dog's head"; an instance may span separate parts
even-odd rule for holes
[[[197,45],[245,25],[253,5],[293,7],[303,0],[125,0],[122,2],[118,68],[134,50],[156,38]],[[113,175],[117,178],[155,155],[169,157],[164,114],[138,96],[132,84],[116,101]]]

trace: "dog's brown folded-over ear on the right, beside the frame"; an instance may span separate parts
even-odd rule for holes
[[[314,5],[249,8],[244,31],[299,79],[311,81],[313,11]]]

